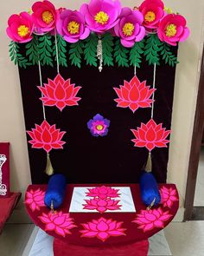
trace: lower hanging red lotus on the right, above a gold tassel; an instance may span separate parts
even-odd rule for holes
[[[135,142],[134,146],[146,147],[149,151],[153,148],[167,148],[169,140],[166,138],[171,132],[170,130],[166,131],[162,123],[157,125],[153,119],[150,119],[147,124],[142,123],[141,128],[131,129],[131,131],[136,136],[136,139],[131,140]]]

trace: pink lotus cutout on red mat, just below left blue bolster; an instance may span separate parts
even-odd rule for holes
[[[42,213],[39,219],[41,222],[45,223],[45,231],[54,231],[63,237],[65,237],[67,233],[71,233],[69,231],[70,229],[76,227],[73,225],[73,219],[69,217],[69,213]]]

